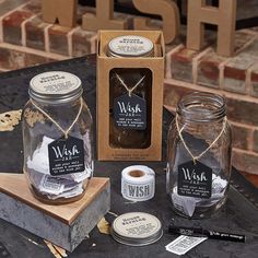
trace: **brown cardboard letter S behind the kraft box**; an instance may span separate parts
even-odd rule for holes
[[[144,13],[159,14],[163,20],[165,43],[172,43],[179,30],[179,11],[172,0],[133,0],[134,7]],[[134,30],[156,30],[148,25],[150,19],[136,17]]]

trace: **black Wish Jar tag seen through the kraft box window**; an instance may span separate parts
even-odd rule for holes
[[[125,94],[114,101],[116,126],[125,129],[146,129],[146,102],[136,94]]]

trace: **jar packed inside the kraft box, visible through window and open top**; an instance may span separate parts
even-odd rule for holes
[[[153,43],[141,36],[112,39],[107,56],[143,58],[153,56]],[[151,144],[152,72],[148,68],[114,68],[109,73],[109,145],[146,149]]]

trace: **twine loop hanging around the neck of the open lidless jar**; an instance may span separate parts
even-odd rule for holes
[[[177,128],[179,138],[180,138],[180,140],[181,140],[181,142],[183,142],[185,149],[187,150],[187,152],[188,152],[189,155],[191,156],[191,159],[192,159],[192,161],[194,161],[195,164],[196,164],[196,162],[197,162],[199,159],[201,159],[201,157],[219,141],[219,139],[221,138],[221,136],[222,136],[223,132],[225,131],[226,121],[227,121],[227,119],[226,119],[226,117],[225,117],[224,120],[223,120],[222,130],[220,131],[220,133],[218,134],[218,137],[214,139],[214,141],[213,141],[211,144],[209,144],[209,146],[208,146],[204,151],[202,151],[199,155],[195,156],[195,155],[192,154],[192,152],[190,151],[190,149],[188,148],[188,145],[186,144],[186,141],[184,140],[184,137],[183,137],[183,134],[181,134],[183,129],[184,129],[185,126],[183,126],[183,128],[179,128],[178,115],[176,115],[176,128]]]

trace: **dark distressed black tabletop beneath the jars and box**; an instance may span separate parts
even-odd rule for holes
[[[0,113],[23,108],[28,99],[28,82],[35,74],[49,70],[62,70],[72,72],[82,79],[83,97],[91,109],[95,125],[95,56],[87,56],[0,74]],[[172,119],[173,116],[164,110],[163,160],[167,128]],[[21,125],[15,127],[12,132],[0,132],[0,172],[22,172],[22,149]],[[156,172],[155,197],[150,201],[137,203],[125,200],[120,195],[120,172],[125,166],[134,163],[96,162],[95,176],[110,177],[112,212],[121,214],[130,211],[144,211],[156,215],[163,223],[164,236],[162,239],[145,247],[129,247],[116,243],[109,235],[103,235],[97,228],[94,228],[90,238],[69,254],[69,257],[177,257],[165,250],[165,245],[176,238],[166,231],[172,219],[180,225],[202,226],[247,236],[245,244],[209,239],[187,253],[185,257],[258,257],[258,190],[236,169],[233,169],[232,173],[231,189],[225,207],[211,219],[191,221],[179,218],[172,211],[165,192],[164,161],[142,163]],[[106,219],[112,222],[115,216],[107,214]],[[4,248],[5,251],[1,253]],[[48,258],[52,255],[43,239],[0,220],[0,257]]]

